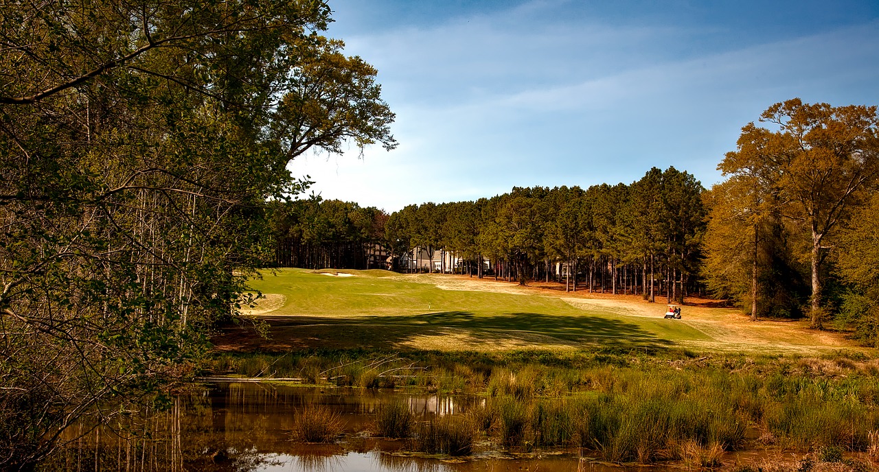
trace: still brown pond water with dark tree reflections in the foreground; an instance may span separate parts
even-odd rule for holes
[[[142,423],[141,434],[122,439],[125,428],[76,426],[70,447],[44,464],[47,470],[206,471],[619,471],[578,450],[510,453],[483,444],[466,458],[408,452],[406,440],[370,437],[381,404],[402,400],[418,421],[463,415],[482,397],[381,390],[319,389],[272,383],[217,383],[176,397],[169,411]],[[297,411],[323,404],[337,411],[345,434],[334,444],[291,440]],[[665,467],[651,467],[662,470]],[[628,470],[638,470],[628,467]],[[647,468],[643,468],[646,470]]]

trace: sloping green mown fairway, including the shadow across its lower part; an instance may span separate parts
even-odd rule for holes
[[[273,338],[322,340],[309,347],[570,348],[663,347],[712,338],[686,323],[581,310],[559,297],[441,290],[381,270],[355,276],[281,269],[251,282],[286,302],[265,314]],[[430,279],[426,279],[430,280]]]

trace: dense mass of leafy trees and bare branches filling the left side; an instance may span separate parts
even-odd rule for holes
[[[271,257],[309,148],[396,145],[329,7],[0,5],[0,468],[161,403]],[[8,414],[7,414],[8,413]]]

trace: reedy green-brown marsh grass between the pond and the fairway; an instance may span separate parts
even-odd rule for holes
[[[879,430],[879,361],[854,352],[332,351],[220,354],[214,367],[325,386],[484,397],[466,421],[421,426],[416,437],[427,435],[418,443],[426,451],[467,450],[461,438],[484,436],[513,450],[584,447],[607,461],[710,464],[742,447],[867,451]]]

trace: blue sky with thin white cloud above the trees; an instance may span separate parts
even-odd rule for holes
[[[329,4],[325,34],[378,69],[399,146],[308,154],[290,170],[324,199],[388,212],[630,183],[651,167],[710,188],[771,104],[879,104],[876,0]]]

